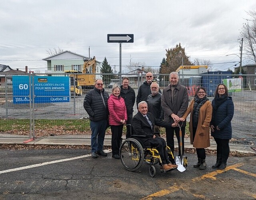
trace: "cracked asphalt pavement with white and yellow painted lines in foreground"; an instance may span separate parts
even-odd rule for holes
[[[93,159],[86,149],[0,150],[1,200],[84,199],[255,199],[256,156],[230,157],[225,170],[193,168],[149,175],[148,164],[136,172],[108,156]]]

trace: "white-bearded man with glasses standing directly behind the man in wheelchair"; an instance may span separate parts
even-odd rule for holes
[[[159,85],[155,82],[152,82],[150,85],[151,94],[148,95],[147,104],[148,104],[148,112],[151,112],[156,119],[163,120],[164,119],[164,111],[161,105],[161,96],[159,93]],[[160,137],[160,126],[154,126],[155,135]],[[158,132],[158,134],[156,134]]]

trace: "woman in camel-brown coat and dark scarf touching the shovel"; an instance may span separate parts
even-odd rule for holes
[[[198,157],[198,163],[194,167],[204,170],[206,168],[205,148],[210,146],[210,121],[212,119],[212,104],[207,98],[204,87],[197,88],[194,99],[180,120],[184,121],[188,114],[190,114],[190,144],[196,148]]]

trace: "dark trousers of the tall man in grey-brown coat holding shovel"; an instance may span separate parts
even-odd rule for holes
[[[179,146],[179,155],[181,156],[180,152],[180,128],[179,127],[172,127],[172,128],[166,128],[166,142],[167,146],[170,147],[172,150],[172,154],[174,155],[174,131],[176,134],[176,137],[178,139],[178,146]],[[184,136],[185,136],[185,126],[181,127],[181,132],[182,132],[182,155],[184,155]]]

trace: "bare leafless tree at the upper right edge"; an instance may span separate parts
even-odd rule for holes
[[[250,19],[246,19],[240,30],[240,36],[244,38],[244,55],[245,58],[256,63],[256,11],[251,10],[247,12]]]

